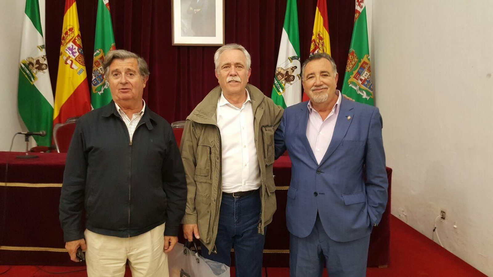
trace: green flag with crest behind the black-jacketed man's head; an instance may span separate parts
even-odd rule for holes
[[[103,61],[108,51],[115,49],[115,38],[111,15],[109,14],[109,0],[98,0],[98,15],[96,17],[96,37],[94,38],[94,60],[92,74],[91,104],[99,108],[111,101],[109,84],[103,71]]]

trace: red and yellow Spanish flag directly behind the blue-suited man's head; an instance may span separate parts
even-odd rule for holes
[[[310,56],[317,54],[318,52],[330,55],[329,19],[327,16],[326,0],[318,0],[317,9],[315,10]],[[308,100],[308,96],[304,93],[303,101]]]

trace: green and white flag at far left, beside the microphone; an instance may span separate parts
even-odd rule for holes
[[[17,105],[19,114],[30,132],[46,131],[45,137],[33,137],[37,145],[50,146],[53,92],[46,62],[38,0],[26,0]]]

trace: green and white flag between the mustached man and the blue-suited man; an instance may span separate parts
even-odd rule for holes
[[[287,0],[271,98],[283,108],[301,102],[300,35],[296,0]]]

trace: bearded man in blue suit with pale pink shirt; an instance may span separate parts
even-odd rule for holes
[[[292,162],[286,224],[290,276],[366,274],[373,226],[387,205],[387,173],[378,108],[336,90],[334,60],[317,53],[302,66],[310,101],[285,109],[275,133],[276,158]]]

